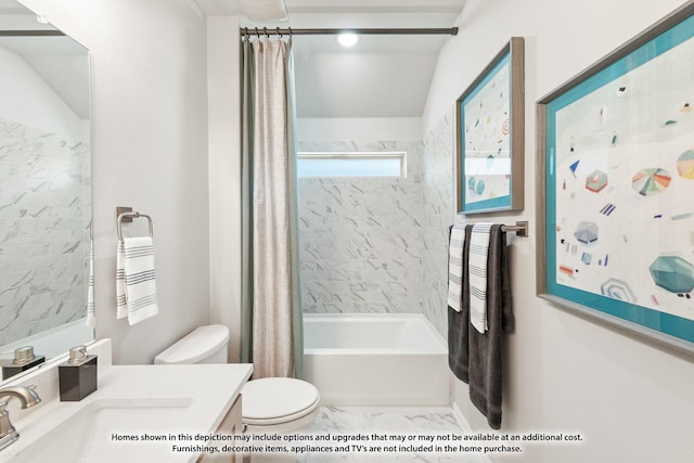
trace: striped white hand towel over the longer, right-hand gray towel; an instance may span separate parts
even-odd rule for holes
[[[487,324],[487,258],[492,223],[475,223],[470,237],[470,321],[479,333]]]

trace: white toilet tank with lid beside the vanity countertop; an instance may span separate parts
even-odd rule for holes
[[[220,324],[200,326],[154,358],[155,364],[227,363],[229,329]]]

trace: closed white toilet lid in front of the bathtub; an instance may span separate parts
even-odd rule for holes
[[[291,377],[253,380],[241,394],[243,421],[247,424],[297,420],[312,412],[320,401],[316,386]]]

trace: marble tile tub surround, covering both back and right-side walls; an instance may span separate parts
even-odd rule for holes
[[[453,115],[423,141],[300,142],[299,151],[407,151],[407,179],[300,179],[306,312],[421,312],[447,336]]]

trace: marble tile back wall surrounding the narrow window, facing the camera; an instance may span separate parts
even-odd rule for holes
[[[301,152],[406,151],[407,178],[299,179],[305,312],[422,312],[416,141],[299,142]]]

